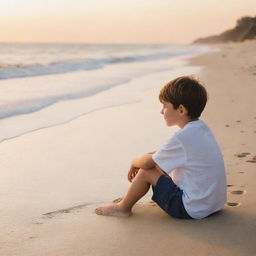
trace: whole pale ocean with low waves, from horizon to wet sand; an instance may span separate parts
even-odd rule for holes
[[[139,101],[139,92],[149,85],[130,88],[131,81],[181,68],[185,58],[212,50],[174,44],[1,43],[0,142]]]

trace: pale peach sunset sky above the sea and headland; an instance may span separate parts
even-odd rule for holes
[[[0,0],[0,42],[190,43],[256,15],[256,0]]]

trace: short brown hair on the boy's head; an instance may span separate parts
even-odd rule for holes
[[[161,102],[170,102],[174,109],[183,105],[190,118],[200,117],[207,102],[207,92],[198,80],[181,76],[168,82],[159,93]]]

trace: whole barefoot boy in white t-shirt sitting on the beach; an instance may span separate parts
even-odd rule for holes
[[[161,89],[159,100],[167,126],[181,129],[159,151],[132,161],[126,196],[117,204],[98,207],[98,215],[130,216],[150,185],[152,200],[172,217],[202,219],[224,207],[222,154],[210,129],[199,120],[207,102],[205,88],[192,77],[178,77]]]

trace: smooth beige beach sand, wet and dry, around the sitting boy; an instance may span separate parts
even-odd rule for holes
[[[0,255],[254,255],[256,42],[220,49],[189,63],[204,67],[197,76],[210,99],[202,119],[225,159],[229,205],[222,212],[178,220],[151,204],[150,194],[129,218],[93,212],[125,193],[133,157],[156,150],[176,129],[165,126],[157,94],[179,74],[160,72],[136,81],[152,83],[137,103],[0,144]]]

